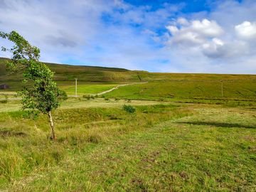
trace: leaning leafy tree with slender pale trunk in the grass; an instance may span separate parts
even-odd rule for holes
[[[60,106],[60,100],[66,99],[66,94],[53,81],[54,73],[39,62],[40,50],[31,46],[16,31],[0,32],[0,38],[6,38],[14,43],[10,49],[2,47],[3,51],[10,51],[13,55],[7,63],[12,71],[23,70],[23,89],[18,92],[21,96],[22,109],[32,114],[48,114],[51,129],[51,139],[55,139],[52,111]]]

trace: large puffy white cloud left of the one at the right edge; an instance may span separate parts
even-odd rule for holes
[[[178,18],[175,25],[166,26],[171,36],[169,46],[197,47],[209,57],[220,56],[219,48],[224,42],[217,38],[224,32],[216,21],[204,18],[202,21],[187,21],[186,18]]]

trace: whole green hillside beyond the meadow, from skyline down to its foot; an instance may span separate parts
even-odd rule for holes
[[[0,84],[11,90],[21,87],[21,73],[6,73],[6,58],[0,58]],[[78,78],[78,95],[109,90],[119,83],[148,82],[120,87],[106,97],[132,100],[253,100],[256,98],[256,75],[149,73],[123,68],[102,68],[46,63],[55,72],[55,80],[68,95],[75,92],[74,78]]]

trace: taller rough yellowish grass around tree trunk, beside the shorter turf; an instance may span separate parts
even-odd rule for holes
[[[170,112],[154,114],[154,117],[143,112],[131,116],[121,107],[58,110],[54,114],[58,135],[55,143],[48,139],[46,117],[41,116],[34,122],[23,119],[23,112],[2,112],[0,186],[6,186],[15,178],[27,176],[31,171],[57,165],[68,156],[70,150],[76,155],[87,144],[105,142],[117,135],[144,129],[161,120],[189,114],[189,111],[182,110],[174,114],[173,109],[176,107],[173,105],[166,105],[166,109]]]

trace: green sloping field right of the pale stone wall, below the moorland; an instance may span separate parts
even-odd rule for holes
[[[223,97],[219,81],[164,81],[119,87],[106,94],[135,100],[160,99],[208,99],[208,100],[256,100],[256,80],[223,82]]]

